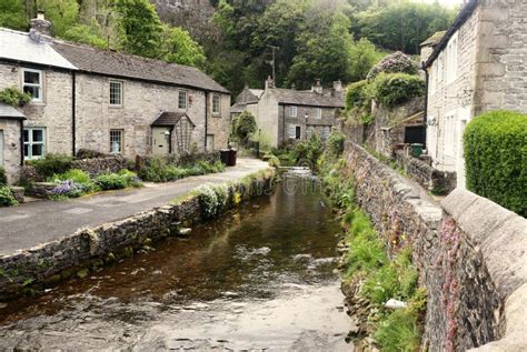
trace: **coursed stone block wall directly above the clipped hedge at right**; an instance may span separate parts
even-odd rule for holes
[[[526,1],[480,1],[475,115],[498,109],[527,112],[526,17]]]

